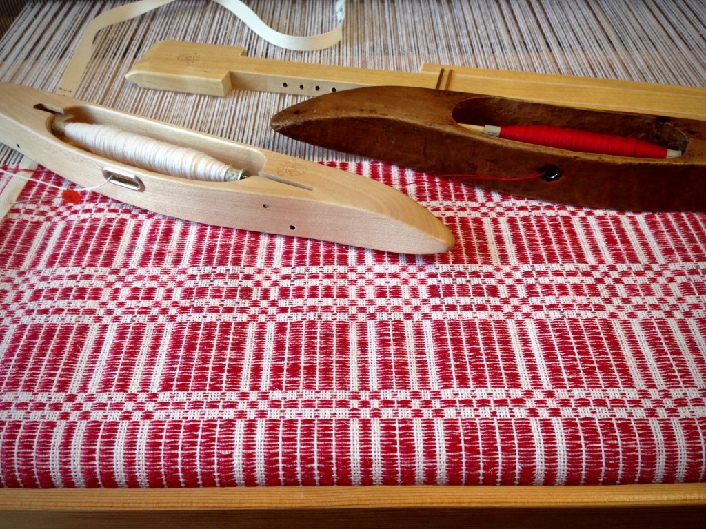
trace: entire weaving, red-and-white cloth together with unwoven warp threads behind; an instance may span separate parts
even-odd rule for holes
[[[52,91],[114,2],[30,2],[0,79]],[[253,1],[275,29],[328,1]],[[0,224],[6,487],[700,482],[706,217],[564,207],[280,138],[300,100],[140,90],[152,42],[417,71],[423,62],[706,87],[706,4],[348,3],[344,40],[277,49],[178,1],[101,32],[77,97],[376,178],[452,229],[434,257],[161,217],[97,194]],[[2,151],[13,171],[19,157]],[[68,185],[40,172],[37,178]],[[0,188],[7,177],[0,179]]]

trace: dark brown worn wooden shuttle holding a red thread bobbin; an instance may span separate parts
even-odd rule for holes
[[[706,121],[378,86],[295,104],[270,125],[313,145],[512,195],[706,211]],[[519,136],[508,135],[518,127]]]

